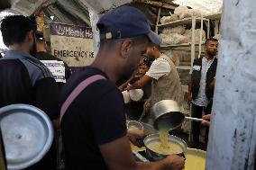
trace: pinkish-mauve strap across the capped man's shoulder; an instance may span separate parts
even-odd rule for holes
[[[69,97],[66,99],[66,101],[61,105],[60,109],[60,121],[64,115],[64,113],[68,110],[69,105],[77,98],[78,94],[80,94],[83,90],[87,88],[88,85],[91,85],[92,83],[96,82],[97,80],[105,79],[105,76],[101,75],[95,75],[90,76],[84,81],[82,81],[73,91],[71,94],[69,94]]]

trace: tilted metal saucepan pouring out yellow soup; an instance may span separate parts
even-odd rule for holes
[[[175,130],[181,126],[185,116],[180,112],[178,103],[173,100],[163,100],[155,103],[151,108],[154,128],[159,130],[160,123],[166,123],[169,130]]]

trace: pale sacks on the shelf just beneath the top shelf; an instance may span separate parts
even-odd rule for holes
[[[195,30],[195,42],[200,42],[201,29]],[[165,45],[181,44],[191,42],[191,30],[186,30],[185,26],[179,25],[174,28],[164,28],[160,33],[162,43]],[[202,40],[206,39],[206,32],[202,31]]]

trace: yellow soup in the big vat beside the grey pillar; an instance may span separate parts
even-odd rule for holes
[[[205,170],[206,158],[195,155],[186,155],[185,170]]]

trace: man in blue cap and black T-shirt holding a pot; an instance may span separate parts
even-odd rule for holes
[[[72,75],[64,85],[61,130],[68,170],[129,170],[184,168],[183,157],[172,155],[159,162],[133,159],[127,134],[123,95],[114,83],[131,76],[146,52],[148,42],[160,44],[144,14],[123,6],[105,13],[97,23],[100,49],[94,63]]]

